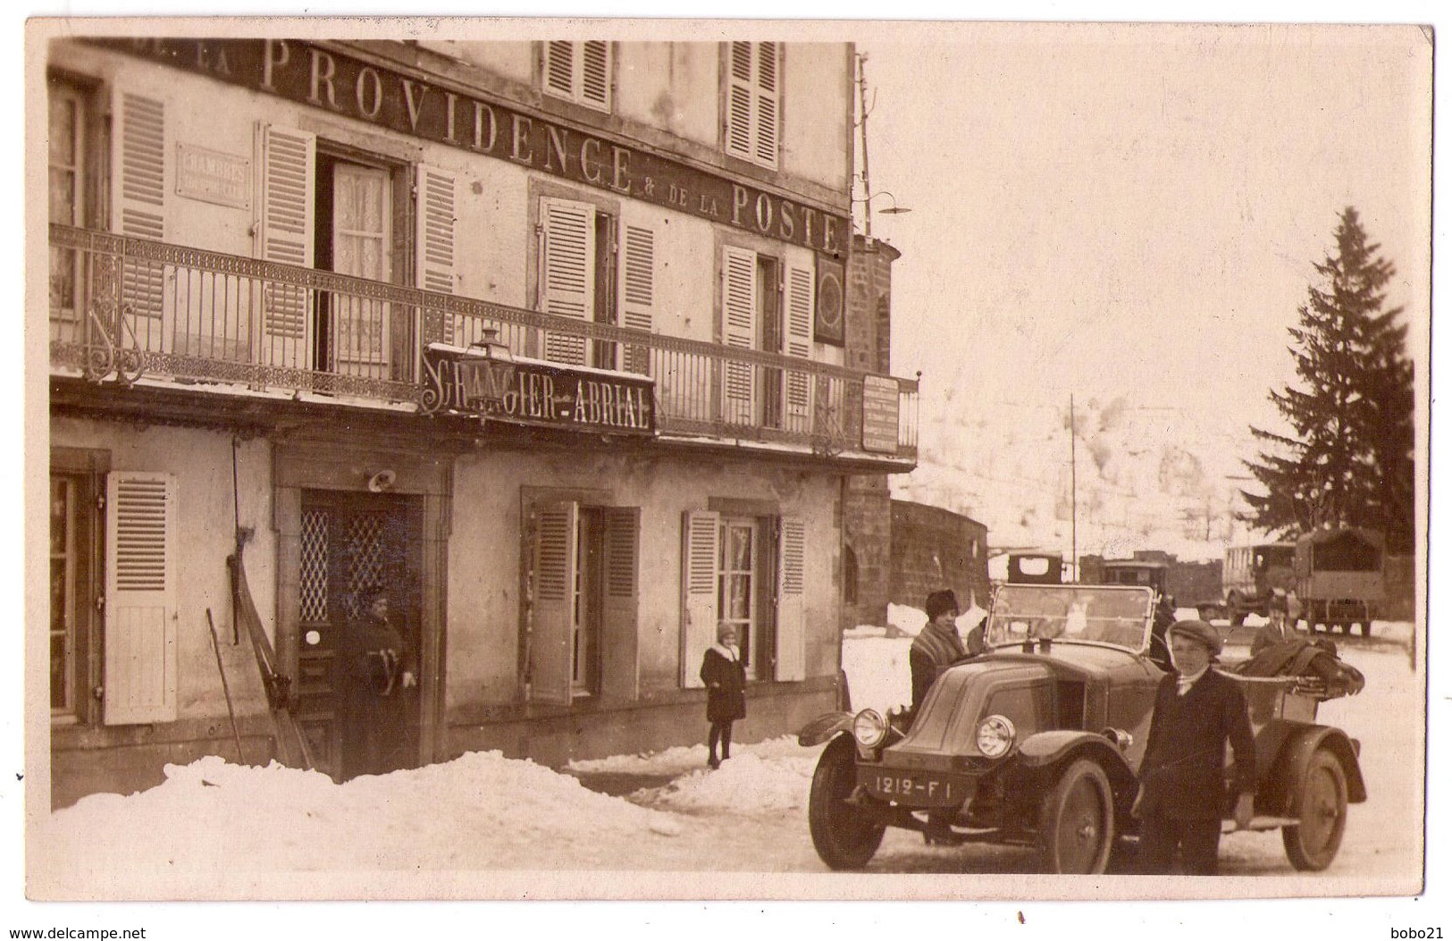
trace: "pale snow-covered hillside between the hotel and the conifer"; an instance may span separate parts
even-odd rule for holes
[[[918,469],[892,478],[893,495],[979,520],[995,549],[1067,556],[1076,516],[1079,555],[1218,559],[1227,545],[1259,537],[1233,518],[1240,488],[1253,485],[1243,417],[1077,401],[1073,452],[1067,401],[980,401],[925,386],[921,417]]]

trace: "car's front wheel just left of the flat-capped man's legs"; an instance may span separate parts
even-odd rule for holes
[[[1050,873],[1098,874],[1114,850],[1114,790],[1096,762],[1069,765],[1038,813],[1038,851]]]

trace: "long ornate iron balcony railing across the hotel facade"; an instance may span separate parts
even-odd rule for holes
[[[910,379],[64,225],[49,247],[52,375],[427,411],[424,351],[492,338],[648,376],[662,439],[916,460]]]

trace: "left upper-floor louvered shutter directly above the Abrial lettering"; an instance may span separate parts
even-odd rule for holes
[[[566,199],[540,199],[544,247],[540,296],[544,312],[591,319],[595,288],[595,208]],[[569,366],[585,364],[585,340],[550,330],[544,359]]]

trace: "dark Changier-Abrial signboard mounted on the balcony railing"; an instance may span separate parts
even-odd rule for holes
[[[497,360],[444,344],[424,351],[424,411],[610,434],[655,434],[655,382],[540,360]]]

